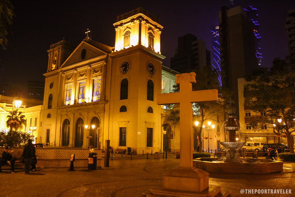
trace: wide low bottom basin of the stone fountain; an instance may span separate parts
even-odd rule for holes
[[[193,160],[193,166],[206,172],[216,173],[268,174],[283,171],[283,162],[281,161],[247,159],[249,160],[247,163],[224,163],[214,162],[220,158],[196,158]]]

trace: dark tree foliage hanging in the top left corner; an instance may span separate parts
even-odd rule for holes
[[[8,28],[12,25],[14,17],[14,7],[8,0],[0,1],[0,44],[4,49],[7,45]]]

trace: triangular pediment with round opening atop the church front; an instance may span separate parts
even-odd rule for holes
[[[60,68],[87,61],[112,52],[112,47],[89,40],[83,40]]]

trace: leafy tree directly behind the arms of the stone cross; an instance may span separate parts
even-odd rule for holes
[[[192,121],[198,120],[200,125],[200,127],[193,126],[193,129],[199,139],[199,152],[202,152],[202,125],[204,124],[204,121],[209,119],[217,122],[221,121],[219,120],[219,117],[224,114],[224,111],[230,105],[228,101],[230,100],[231,92],[225,87],[220,87],[218,74],[210,67],[207,66],[199,70],[193,70],[192,72],[196,73],[196,83],[192,84],[193,91],[217,89],[219,92],[219,101],[193,103]],[[172,92],[179,92],[179,85],[174,85],[173,88]],[[172,124],[179,124],[179,113],[178,105],[174,105],[171,109],[170,117],[166,118],[165,121],[171,122]],[[194,143],[196,142],[194,141]]]

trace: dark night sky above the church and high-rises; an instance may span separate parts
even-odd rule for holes
[[[230,7],[229,0],[207,1],[11,1],[16,17],[8,36],[7,50],[0,49],[3,65],[1,80],[26,84],[27,80],[44,80],[50,45],[65,38],[78,45],[87,28],[89,37],[114,46],[113,23],[119,14],[139,6],[160,17],[164,28],[161,34],[161,53],[166,56],[163,65],[170,67],[177,39],[191,33],[206,42],[212,51],[212,26],[218,24],[218,11]],[[234,6],[249,5],[258,9],[261,35],[262,65],[270,67],[275,57],[288,55],[285,30],[288,9],[295,8],[294,0],[235,1]],[[4,69],[3,69],[4,67]]]

